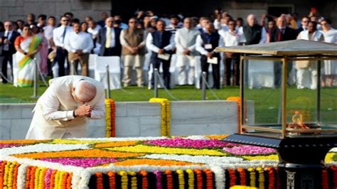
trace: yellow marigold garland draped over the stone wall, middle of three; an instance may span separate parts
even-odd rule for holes
[[[171,105],[168,99],[151,98],[149,102],[161,103],[161,136],[171,135]]]

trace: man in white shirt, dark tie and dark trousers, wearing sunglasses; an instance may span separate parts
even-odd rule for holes
[[[53,31],[53,41],[56,46],[56,60],[58,61],[58,76],[64,76],[65,73],[65,58],[68,59],[68,51],[65,49],[65,37],[70,33],[72,28],[68,26],[70,20],[67,16],[61,16],[60,18],[61,26],[55,28]],[[68,61],[67,61],[68,62]],[[69,63],[67,72],[70,69]]]

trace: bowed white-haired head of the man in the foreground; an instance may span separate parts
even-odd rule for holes
[[[80,80],[75,83],[74,95],[81,102],[90,102],[96,96],[96,87],[92,82],[87,80]]]

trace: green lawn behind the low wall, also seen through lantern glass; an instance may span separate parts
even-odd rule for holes
[[[41,83],[38,88],[38,95],[42,95],[46,87]],[[176,86],[169,90],[173,97],[179,100],[201,100],[202,91],[193,86]],[[223,87],[220,90],[213,90],[216,97],[207,90],[207,100],[226,99],[227,97],[239,96],[239,87]],[[36,102],[37,99],[31,98],[33,87],[14,87],[13,85],[0,84],[0,103],[24,103]],[[276,89],[253,89],[246,90],[245,99],[254,101],[256,124],[276,123],[279,115],[279,101],[281,91]],[[154,91],[146,87],[127,87],[122,90],[112,90],[111,97],[115,102],[135,102],[149,101],[154,97]],[[165,90],[159,90],[159,97],[171,101],[172,98]],[[290,86],[287,90],[287,110],[288,121],[295,110],[303,114],[304,121],[316,121],[316,90],[297,90]],[[250,118],[249,118],[250,119]],[[337,87],[326,87],[321,90],[321,119],[324,122],[337,123]]]

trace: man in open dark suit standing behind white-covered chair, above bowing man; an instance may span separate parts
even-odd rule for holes
[[[101,56],[120,56],[122,45],[119,41],[121,28],[114,28],[114,18],[109,17],[105,20],[105,28],[101,28],[98,33],[98,43],[100,43]]]

